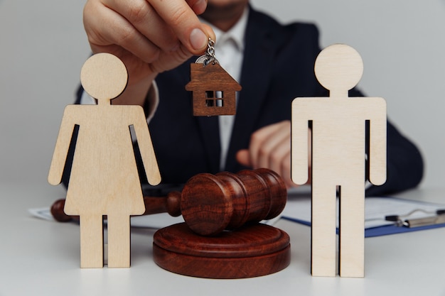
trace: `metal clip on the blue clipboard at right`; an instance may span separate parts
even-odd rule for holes
[[[424,212],[425,214],[431,214],[431,216],[409,219],[409,216],[412,216],[412,214],[417,212]],[[436,210],[436,212],[428,212],[423,209],[414,209],[413,211],[403,216],[399,215],[385,216],[385,220],[394,221],[395,224],[397,224],[397,226],[404,226],[408,228],[430,226],[435,224],[445,224],[445,209],[438,209]]]

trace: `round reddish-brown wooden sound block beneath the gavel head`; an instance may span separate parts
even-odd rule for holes
[[[154,234],[157,265],[173,273],[199,278],[252,278],[283,270],[290,263],[286,232],[252,224],[218,236],[200,236],[185,223]]]

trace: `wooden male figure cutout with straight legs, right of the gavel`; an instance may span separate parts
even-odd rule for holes
[[[308,179],[308,126],[311,121],[311,273],[336,275],[336,189],[340,197],[339,274],[364,276],[365,122],[370,126],[369,180],[386,180],[386,102],[348,97],[363,74],[360,55],[348,45],[331,45],[315,62],[318,81],[329,97],[292,102],[291,175]]]

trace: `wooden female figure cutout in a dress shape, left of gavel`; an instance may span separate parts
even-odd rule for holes
[[[107,215],[108,266],[130,265],[130,215],[145,211],[134,158],[134,127],[146,176],[152,185],[161,176],[141,106],[115,106],[111,99],[127,86],[127,69],[114,55],[100,53],[82,67],[80,80],[97,105],[65,108],[48,182],[60,184],[75,126],[79,126],[65,213],[80,216],[80,267],[102,268],[103,216]]]

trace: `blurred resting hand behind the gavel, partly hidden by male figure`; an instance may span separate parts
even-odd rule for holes
[[[247,167],[274,170],[287,187],[297,187],[291,180],[291,121],[281,121],[255,131],[249,148],[238,151],[236,157]]]

